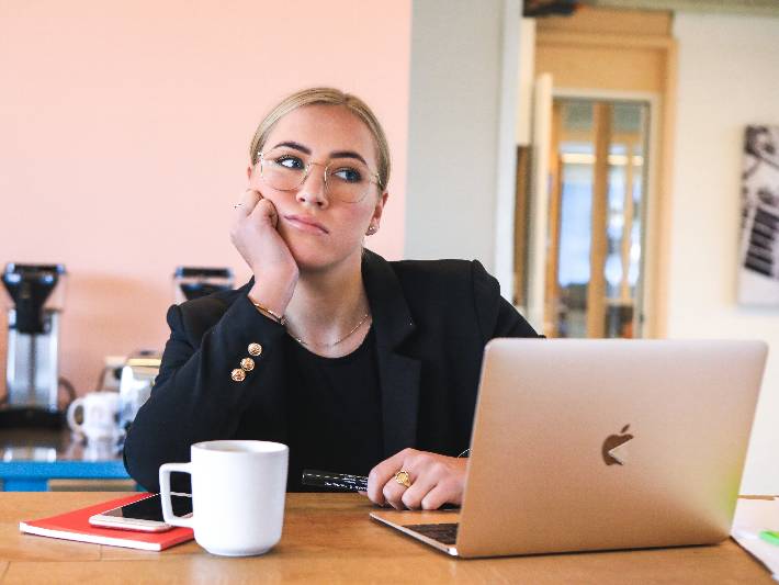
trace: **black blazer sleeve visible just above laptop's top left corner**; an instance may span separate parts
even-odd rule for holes
[[[500,285],[478,260],[471,262],[471,278],[478,326],[484,344],[495,337],[543,337],[500,296]]]

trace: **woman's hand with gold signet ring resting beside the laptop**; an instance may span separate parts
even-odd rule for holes
[[[460,506],[465,487],[467,459],[404,449],[379,463],[368,476],[368,497],[397,509],[438,509],[444,504]],[[406,487],[395,480],[406,471],[411,483]]]

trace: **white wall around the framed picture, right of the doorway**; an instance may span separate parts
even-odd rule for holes
[[[779,307],[736,304],[744,127],[779,124],[779,19],[679,13],[668,335],[770,355],[742,493],[779,494]]]

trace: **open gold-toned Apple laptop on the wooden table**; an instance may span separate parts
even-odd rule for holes
[[[727,538],[761,341],[495,339],[462,508],[371,514],[455,556]]]

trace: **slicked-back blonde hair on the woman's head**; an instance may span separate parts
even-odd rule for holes
[[[346,93],[339,89],[308,88],[284,98],[266,115],[262,122],[260,122],[260,125],[257,126],[255,137],[251,139],[251,146],[249,147],[251,164],[257,164],[257,159],[266,145],[268,135],[271,133],[276,122],[290,112],[303,108],[304,105],[342,105],[368,126],[376,144],[379,187],[384,191],[390,182],[390,145],[387,144],[384,128],[382,128],[379,119],[365,102],[357,95]]]

